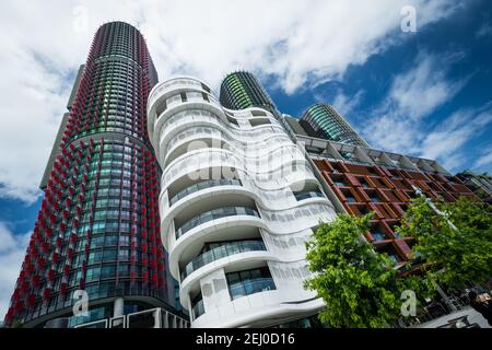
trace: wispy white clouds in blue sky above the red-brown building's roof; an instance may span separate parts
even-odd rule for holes
[[[363,132],[368,142],[384,150],[438,160],[449,171],[459,170],[467,161],[462,147],[492,122],[490,103],[458,109],[437,125],[429,119],[467,83],[469,78],[447,78],[461,57],[420,52],[414,67],[394,79],[388,95],[373,110]]]

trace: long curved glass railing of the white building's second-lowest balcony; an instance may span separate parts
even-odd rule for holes
[[[267,250],[267,247],[261,241],[237,241],[226,243],[222,246],[219,246],[216,248],[213,248],[209,252],[199,255],[192,261],[186,265],[185,269],[181,272],[181,281],[185,278],[187,278],[191,272],[198,270],[199,268],[210,262],[213,262],[226,256],[258,250]]]

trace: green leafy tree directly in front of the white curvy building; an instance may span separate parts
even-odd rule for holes
[[[399,279],[388,256],[363,238],[372,215],[338,215],[306,243],[314,275],[305,288],[323,298],[319,319],[331,327],[387,327],[400,317],[401,292],[422,285],[418,277]]]

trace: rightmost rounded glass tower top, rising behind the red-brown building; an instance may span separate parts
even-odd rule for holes
[[[311,137],[368,147],[350,124],[329,104],[316,103],[304,112],[301,126]]]

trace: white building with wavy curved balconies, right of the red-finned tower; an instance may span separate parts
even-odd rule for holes
[[[267,327],[324,306],[305,242],[336,217],[269,112],[229,110],[195,78],[157,84],[149,136],[163,168],[161,234],[192,327]]]

